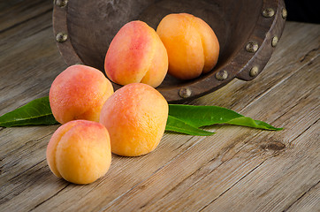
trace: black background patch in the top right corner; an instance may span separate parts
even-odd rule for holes
[[[320,0],[285,0],[287,20],[320,23]]]

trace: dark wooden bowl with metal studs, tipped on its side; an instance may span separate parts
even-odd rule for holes
[[[156,89],[168,102],[209,94],[234,78],[254,79],[267,64],[285,26],[283,0],[56,0],[53,27],[68,65],[103,70],[105,54],[118,30],[140,19],[156,29],[169,13],[187,12],[206,21],[217,34],[216,67],[188,81],[167,75]],[[113,83],[117,90],[118,84]]]

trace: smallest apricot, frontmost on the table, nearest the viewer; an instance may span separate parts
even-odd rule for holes
[[[47,163],[58,177],[74,184],[89,184],[109,170],[110,136],[107,129],[87,120],[74,120],[53,133]]]

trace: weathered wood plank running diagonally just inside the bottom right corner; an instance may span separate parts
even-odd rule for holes
[[[310,128],[291,145],[293,151],[272,157],[212,201],[203,211],[283,211],[319,181],[320,123]],[[306,149],[305,147],[309,147]],[[248,193],[247,195],[242,195]],[[230,201],[232,200],[232,201]]]

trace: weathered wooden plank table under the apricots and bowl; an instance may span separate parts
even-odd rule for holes
[[[0,115],[48,95],[65,69],[51,15],[51,1],[0,3]],[[256,79],[188,102],[285,130],[165,133],[149,155],[112,155],[106,176],[88,186],[50,172],[45,151],[58,125],[0,128],[0,211],[319,211],[319,39],[319,25],[287,22]]]

